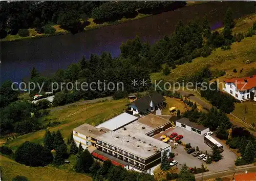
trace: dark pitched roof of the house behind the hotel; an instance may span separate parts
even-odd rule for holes
[[[163,102],[164,100],[165,100],[165,98],[162,95],[155,92],[151,95],[142,97],[142,98],[132,102],[130,105],[135,105],[138,108],[139,112],[142,112],[146,109],[151,108],[150,107],[151,101],[154,105],[157,105],[160,102]]]

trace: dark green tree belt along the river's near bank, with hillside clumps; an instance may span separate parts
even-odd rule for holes
[[[122,98],[127,94],[135,92],[144,92],[154,90],[150,75],[154,72],[163,70],[163,73],[170,74],[176,65],[185,62],[191,62],[192,59],[199,56],[208,56],[212,50],[222,47],[223,51],[230,49],[231,42],[241,41],[244,36],[252,36],[255,34],[256,24],[251,27],[245,34],[232,35],[232,27],[234,21],[232,19],[232,11],[228,9],[224,16],[224,29],[222,32],[210,31],[207,17],[203,21],[194,20],[185,25],[182,21],[176,25],[176,30],[169,36],[165,36],[154,44],[141,42],[136,36],[120,45],[121,54],[113,58],[110,53],[103,52],[101,55],[91,55],[89,59],[84,57],[78,63],[73,63],[66,70],[58,70],[52,76],[42,76],[34,68],[31,71],[30,82],[38,82],[44,87],[42,94],[51,92],[51,82],[123,82],[124,90],[116,92],[115,90],[68,90],[63,89],[54,92],[55,98],[53,106],[64,105],[78,101],[80,99],[90,100],[99,97],[115,95],[115,98]],[[167,68],[166,68],[167,67]],[[178,81],[185,82],[202,82],[209,81],[212,77],[224,75],[225,72],[211,72],[209,67],[204,67],[193,76],[182,77]],[[131,80],[147,81],[147,86],[140,84],[134,86]],[[173,83],[173,82],[170,82]],[[96,86],[96,85],[95,85]],[[94,87],[95,88],[95,87]],[[30,93],[32,98],[38,94],[39,89],[35,89]],[[212,102],[217,108],[224,112],[230,112],[233,109],[233,100],[226,95],[216,92],[202,92],[203,96]],[[47,101],[39,101],[36,105],[30,103],[21,103],[18,99],[18,92],[11,89],[11,82],[6,81],[0,87],[1,108],[1,135],[16,132],[24,134],[38,129],[43,129],[40,124],[40,117],[47,115],[50,103]],[[225,99],[224,99],[225,98]],[[222,101],[222,99],[226,101]],[[15,109],[15,114],[12,110]],[[27,111],[22,111],[27,110]],[[33,112],[33,116],[29,115]],[[16,119],[15,117],[20,117]],[[30,125],[30,126],[29,126]],[[48,126],[48,125],[45,125]],[[26,129],[29,127],[29,129]],[[215,126],[216,127],[216,126]]]

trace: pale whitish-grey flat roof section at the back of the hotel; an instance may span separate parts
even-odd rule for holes
[[[122,114],[120,114],[108,121],[105,121],[102,124],[99,124],[98,126],[96,126],[96,128],[104,127],[104,128],[110,129],[110,130],[116,130],[116,129],[123,127],[126,124],[129,124],[129,123],[137,120],[137,119],[138,118],[136,116],[133,116],[126,112],[123,112]]]

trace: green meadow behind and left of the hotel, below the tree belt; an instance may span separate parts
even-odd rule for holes
[[[59,125],[50,127],[50,131],[61,131],[65,140],[67,140],[71,131],[81,124],[88,123],[95,125],[100,124],[103,121],[113,118],[120,114],[125,108],[125,104],[128,103],[127,99],[112,100],[105,102],[98,102],[94,104],[82,104],[72,105],[61,110],[52,111],[46,117],[49,121],[58,121]],[[16,150],[17,147],[25,141],[42,144],[45,135],[45,130],[39,130],[37,132],[28,133],[22,135],[14,140],[10,140],[6,143],[7,146]]]

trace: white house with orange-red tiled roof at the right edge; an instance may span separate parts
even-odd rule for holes
[[[244,78],[232,78],[224,80],[223,90],[234,98],[243,101],[250,99],[250,92],[253,92],[256,101],[256,75]]]

